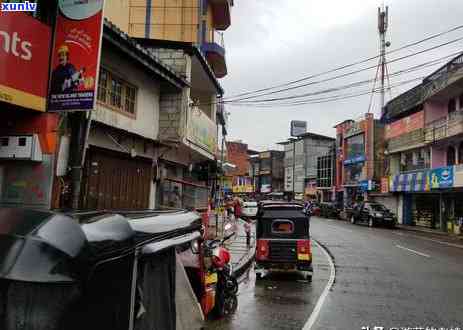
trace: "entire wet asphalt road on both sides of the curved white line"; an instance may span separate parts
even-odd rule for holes
[[[312,329],[463,329],[463,248],[319,218],[312,218],[311,232],[336,265],[335,284]],[[251,271],[241,284],[237,313],[208,322],[207,329],[301,329],[330,272],[320,249],[314,246],[313,253],[312,283],[283,274],[255,282]]]

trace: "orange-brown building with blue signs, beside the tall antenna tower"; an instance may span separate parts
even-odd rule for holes
[[[379,191],[384,171],[384,125],[367,113],[336,128],[336,202],[349,206]]]

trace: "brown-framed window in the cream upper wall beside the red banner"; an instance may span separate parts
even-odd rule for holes
[[[100,70],[97,98],[111,109],[136,115],[137,88],[105,68]]]

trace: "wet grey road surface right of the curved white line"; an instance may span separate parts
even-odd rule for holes
[[[315,329],[463,329],[463,248],[336,220],[313,219],[311,229],[337,272]]]

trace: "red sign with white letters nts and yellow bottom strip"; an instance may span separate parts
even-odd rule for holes
[[[45,111],[50,43],[47,25],[0,11],[0,101]]]

